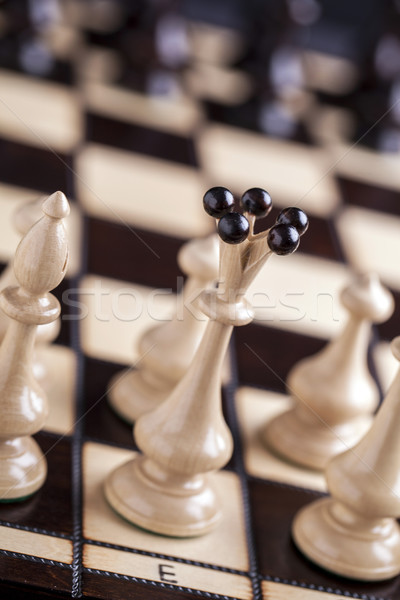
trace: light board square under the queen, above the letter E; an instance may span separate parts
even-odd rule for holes
[[[188,539],[164,537],[127,523],[109,507],[105,500],[103,485],[106,477],[113,469],[133,456],[134,453],[128,450],[91,442],[85,444],[83,448],[85,538],[227,569],[238,571],[249,569],[244,507],[237,475],[228,471],[216,475],[215,481],[222,502],[223,517],[211,533]]]

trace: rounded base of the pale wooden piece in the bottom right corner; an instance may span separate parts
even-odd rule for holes
[[[323,498],[298,513],[292,535],[310,560],[337,575],[380,581],[400,573],[400,527],[394,519],[363,519]]]

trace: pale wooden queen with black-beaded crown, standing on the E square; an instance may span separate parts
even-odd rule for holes
[[[105,482],[109,503],[125,519],[178,537],[204,534],[220,519],[214,472],[232,453],[221,407],[224,354],[233,327],[252,320],[244,298],[248,286],[272,252],[293,252],[300,235],[280,222],[254,234],[254,219],[271,208],[268,194],[258,188],[242,197],[249,219],[231,212],[233,197],[225,188],[209,190],[204,205],[219,219],[221,238],[219,286],[204,290],[200,299],[209,317],[205,333],[165,402],[136,422],[134,435],[143,455],[118,467]]]

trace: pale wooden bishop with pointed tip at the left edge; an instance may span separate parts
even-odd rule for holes
[[[47,402],[32,374],[36,328],[60,314],[49,294],[65,275],[68,249],[62,219],[69,213],[64,194],[43,202],[44,216],[20,242],[14,259],[18,286],[0,294],[10,322],[0,348],[0,500],[22,500],[43,484],[46,459],[31,437],[44,425]]]

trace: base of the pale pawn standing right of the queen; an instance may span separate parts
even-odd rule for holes
[[[262,438],[283,458],[309,469],[323,470],[331,458],[357,444],[371,424],[372,417],[368,415],[329,427],[302,420],[295,407],[268,423]]]

